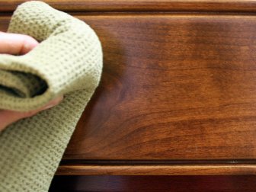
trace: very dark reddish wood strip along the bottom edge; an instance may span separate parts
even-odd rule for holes
[[[58,176],[50,191],[253,192],[256,176]]]

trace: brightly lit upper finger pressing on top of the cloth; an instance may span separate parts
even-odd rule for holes
[[[7,34],[0,31],[0,53],[25,54],[37,46],[33,37],[24,34]]]

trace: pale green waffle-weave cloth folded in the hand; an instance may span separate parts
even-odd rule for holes
[[[102,50],[83,21],[43,2],[25,2],[8,32],[41,43],[24,56],[0,55],[0,109],[61,104],[0,133],[0,191],[47,191],[82,111],[98,86]]]

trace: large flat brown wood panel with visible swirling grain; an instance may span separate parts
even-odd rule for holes
[[[101,39],[104,74],[65,159],[256,157],[255,16],[78,18]]]

